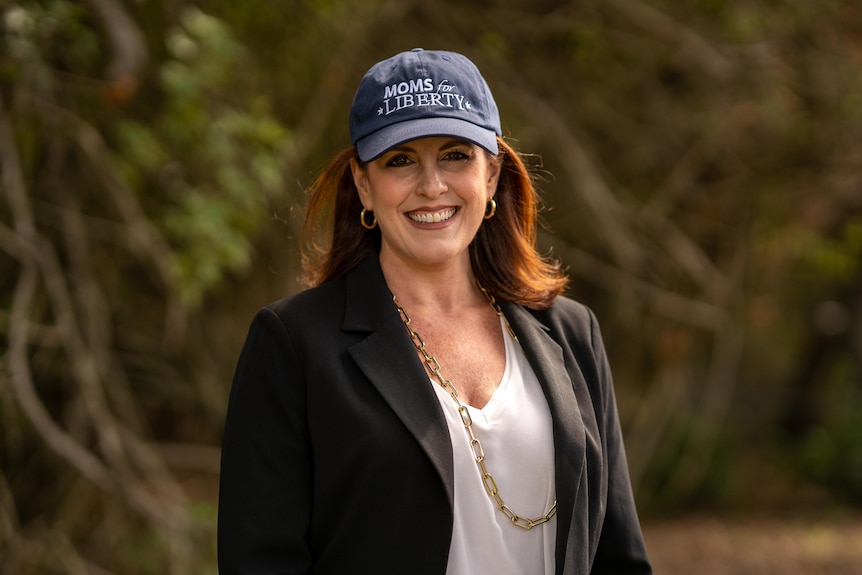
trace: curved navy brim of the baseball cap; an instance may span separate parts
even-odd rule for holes
[[[356,142],[359,159],[370,162],[383,152],[419,138],[451,136],[473,142],[494,154],[498,153],[497,134],[458,118],[418,118],[386,126]]]

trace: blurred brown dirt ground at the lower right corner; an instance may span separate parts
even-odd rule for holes
[[[862,517],[646,522],[656,575],[862,575]]]

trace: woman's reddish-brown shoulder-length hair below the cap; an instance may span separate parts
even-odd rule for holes
[[[494,297],[545,309],[568,278],[559,261],[537,251],[541,203],[533,175],[505,140],[498,138],[497,143],[502,162],[494,196],[497,212],[482,222],[470,244],[473,273]],[[380,250],[380,229],[367,230],[360,223],[362,203],[353,183],[351,159],[359,161],[355,147],[333,157],[307,191],[301,249],[309,285],[342,277],[369,252]]]

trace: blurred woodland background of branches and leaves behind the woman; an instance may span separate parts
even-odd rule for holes
[[[862,572],[857,0],[0,0],[0,574],[215,573],[253,313],[355,87],[469,56],[592,307],[657,573]]]

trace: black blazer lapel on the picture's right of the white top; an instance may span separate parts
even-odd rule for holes
[[[518,336],[524,355],[536,372],[554,420],[557,558],[560,563],[560,559],[566,556],[569,531],[572,528],[568,519],[576,516],[575,502],[585,472],[586,430],[575,397],[575,385],[580,382],[573,382],[573,378],[583,376],[579,371],[567,371],[562,348],[535,316],[517,304],[500,302],[500,305]],[[558,572],[561,567],[557,565]]]

